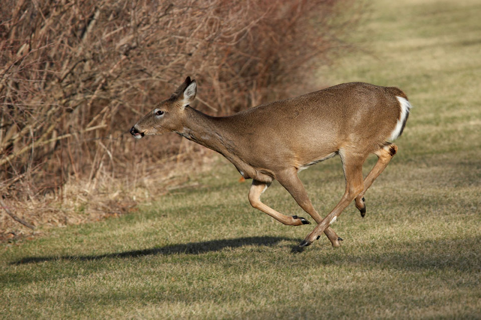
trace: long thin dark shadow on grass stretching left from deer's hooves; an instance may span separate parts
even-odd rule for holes
[[[211,240],[203,242],[191,242],[185,244],[171,244],[164,247],[144,249],[144,250],[133,250],[118,253],[106,253],[100,255],[66,255],[66,256],[50,256],[50,257],[26,257],[19,261],[12,262],[11,264],[27,264],[45,261],[57,261],[57,260],[80,260],[80,261],[91,261],[100,260],[104,258],[135,258],[147,255],[171,255],[171,254],[201,254],[211,251],[220,251],[223,248],[237,248],[243,246],[274,246],[280,241],[295,241],[291,238],[286,237],[243,237],[235,239],[222,239],[222,240]]]

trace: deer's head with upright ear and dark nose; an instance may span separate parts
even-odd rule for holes
[[[184,108],[195,99],[197,85],[187,77],[167,100],[161,101],[131,129],[136,139],[144,135],[181,131],[185,117]]]

